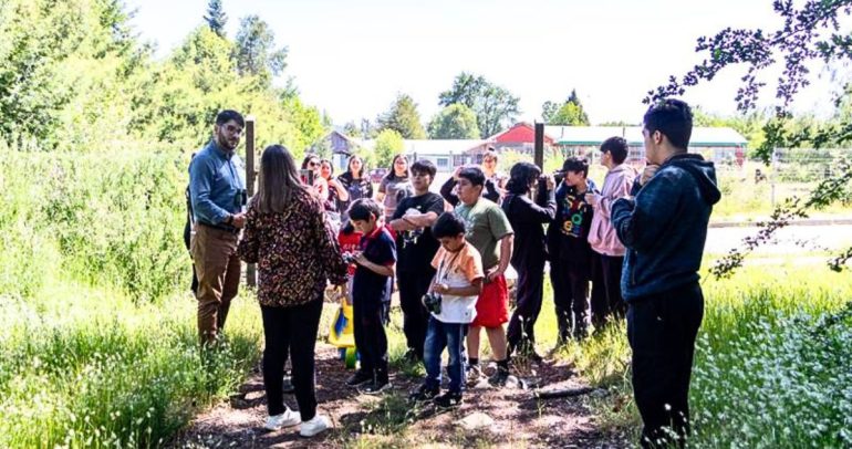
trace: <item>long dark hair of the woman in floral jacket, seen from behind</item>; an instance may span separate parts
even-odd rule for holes
[[[283,145],[270,145],[260,156],[258,206],[263,213],[280,213],[294,191],[308,192],[299,178],[293,155]]]

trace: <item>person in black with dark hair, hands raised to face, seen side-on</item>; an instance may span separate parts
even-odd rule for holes
[[[508,354],[517,351],[533,362],[541,362],[541,356],[536,354],[533,326],[541,312],[544,289],[544,223],[553,221],[557,215],[553,176],[547,175],[539,182],[540,176],[541,169],[536,165],[516,164],[509,173],[502,202],[503,212],[515,229],[511,263],[518,272],[517,307],[506,333]],[[530,199],[531,192],[538,194],[536,202]]]

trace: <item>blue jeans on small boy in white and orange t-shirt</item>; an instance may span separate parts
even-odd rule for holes
[[[425,358],[426,386],[428,388],[440,387],[440,355],[444,348],[449,354],[447,375],[449,376],[449,391],[461,393],[465,385],[465,366],[461,357],[461,344],[465,341],[465,327],[467,324],[444,323],[435,316],[429,317],[426,332]]]

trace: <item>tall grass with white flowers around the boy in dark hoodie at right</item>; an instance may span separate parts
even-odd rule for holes
[[[690,388],[692,447],[852,445],[852,276],[822,265],[746,268],[704,282],[705,316]],[[567,356],[592,383],[601,425],[636,434],[624,327]],[[620,376],[620,373],[622,374]]]

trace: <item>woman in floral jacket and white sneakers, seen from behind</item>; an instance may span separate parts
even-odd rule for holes
[[[263,386],[270,430],[295,426],[312,437],[331,425],[316,415],[314,345],[326,281],[345,281],[343,261],[319,198],[299,179],[290,152],[263,150],[258,194],[249,202],[237,252],[257,263],[258,301],[263,317]],[[290,352],[299,413],[283,401],[284,363]]]

